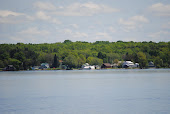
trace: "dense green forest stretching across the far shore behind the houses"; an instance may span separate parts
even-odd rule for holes
[[[59,67],[59,61],[70,68],[80,68],[82,64],[101,65],[118,61],[133,61],[140,68],[147,68],[153,61],[157,68],[170,67],[170,42],[72,42],[65,40],[51,44],[0,44],[0,68],[14,65],[18,70],[26,70],[41,63]]]

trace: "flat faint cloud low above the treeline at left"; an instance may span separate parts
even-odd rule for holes
[[[28,28],[26,30],[22,30],[21,32],[19,32],[19,34],[27,34],[27,35],[48,35],[50,34],[49,31],[47,30],[38,30],[37,27],[32,27],[32,28]]]

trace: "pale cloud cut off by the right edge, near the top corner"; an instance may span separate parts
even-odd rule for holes
[[[148,10],[156,16],[170,16],[170,4],[156,3],[151,5]]]

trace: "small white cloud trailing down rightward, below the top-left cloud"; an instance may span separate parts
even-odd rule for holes
[[[53,18],[53,17],[47,15],[43,11],[38,11],[36,13],[36,18],[40,19],[40,20],[48,21],[48,22],[51,22],[51,23],[55,23],[55,24],[61,24],[61,21],[59,21],[58,19]]]

